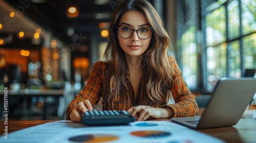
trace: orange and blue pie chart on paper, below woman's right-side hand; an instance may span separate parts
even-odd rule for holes
[[[131,132],[130,134],[138,137],[161,138],[161,137],[169,136],[171,133],[164,132],[164,131],[135,131],[135,132]]]

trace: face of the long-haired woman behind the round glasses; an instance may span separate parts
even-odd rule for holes
[[[123,27],[119,27],[118,29],[119,34],[121,32],[127,33],[127,31],[131,31],[134,29],[138,30],[141,27],[150,27],[144,15],[139,11],[125,12],[120,22],[118,23],[118,26],[123,26]],[[150,30],[150,29],[147,29],[147,28],[140,29],[140,32],[141,32],[141,34],[139,34],[140,37],[143,38],[144,36],[143,34],[146,33],[147,30]],[[125,56],[139,56],[146,51],[146,49],[148,48],[148,45],[150,44],[150,40],[152,36],[150,36],[147,39],[141,39],[140,37],[138,37],[136,31],[133,31],[132,33],[133,34],[131,37],[129,37],[129,34],[128,36],[126,36],[129,38],[122,38],[124,36],[121,37],[119,34],[117,34],[119,44],[122,50],[125,52]]]

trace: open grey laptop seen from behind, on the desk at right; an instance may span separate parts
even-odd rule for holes
[[[201,116],[170,118],[194,129],[233,126],[238,123],[256,92],[254,78],[222,78],[218,81]]]

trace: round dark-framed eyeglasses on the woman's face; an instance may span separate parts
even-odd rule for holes
[[[140,39],[150,38],[153,32],[153,27],[141,27],[138,30],[132,29],[128,26],[117,26],[117,33],[122,38],[130,38],[133,35],[133,32],[136,31]]]

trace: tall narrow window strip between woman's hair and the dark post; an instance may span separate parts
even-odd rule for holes
[[[197,0],[178,1],[180,16],[177,17],[176,28],[178,34],[177,41],[177,62],[183,77],[190,90],[197,90],[200,73],[198,53],[201,52],[201,44],[197,41],[201,37],[197,26],[200,14]]]

